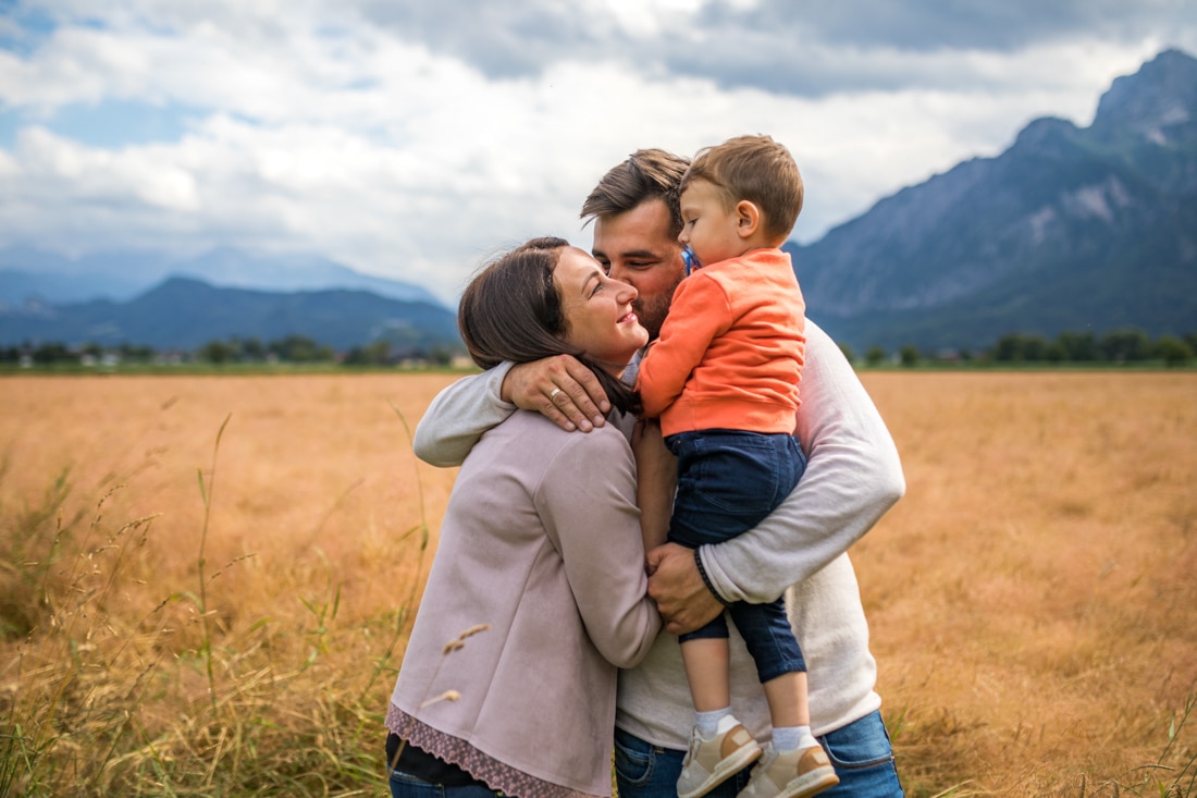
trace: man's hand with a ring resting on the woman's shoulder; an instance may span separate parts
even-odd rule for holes
[[[522,410],[535,410],[570,433],[602,427],[610,412],[594,373],[569,355],[511,367],[499,398]]]

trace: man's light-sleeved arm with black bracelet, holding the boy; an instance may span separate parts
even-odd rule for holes
[[[797,488],[754,530],[699,550],[710,587],[728,601],[776,599],[844,554],[905,492],[881,415],[839,347],[809,321],[801,392],[795,434],[808,465]],[[722,609],[703,587],[693,554],[678,549],[649,556],[657,569],[649,592],[673,633]],[[687,598],[697,600],[685,606]]]

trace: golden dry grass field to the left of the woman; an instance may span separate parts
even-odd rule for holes
[[[0,794],[382,794],[448,381],[5,380]]]

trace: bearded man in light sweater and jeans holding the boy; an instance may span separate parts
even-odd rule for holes
[[[685,277],[676,188],[686,167],[683,158],[661,150],[637,151],[602,177],[582,207],[582,217],[594,219],[595,258],[610,277],[637,289],[633,308],[650,337],[660,332]],[[609,410],[594,377],[570,358],[503,365],[437,397],[417,428],[415,453],[433,465],[457,465],[482,431],[516,407],[583,431],[603,424]],[[697,554],[674,544],[649,552],[649,594],[667,629],[680,634],[713,618],[727,601],[770,601],[784,593],[809,669],[812,730],[840,779],[822,794],[901,796],[846,551],[901,497],[905,483],[876,407],[836,344],[809,320],[795,434],[809,463],[790,497],[734,540]],[[743,641],[731,635],[731,672],[737,675],[731,702],[764,740],[767,705]],[[621,798],[676,796],[692,724],[678,641],[661,635],[648,658],[620,676],[615,772]],[[710,794],[731,798],[747,781],[747,772],[740,773]]]

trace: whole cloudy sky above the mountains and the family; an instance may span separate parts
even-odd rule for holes
[[[452,301],[643,146],[770,133],[795,238],[1080,126],[1193,0],[0,0],[0,248],[317,253]]]

